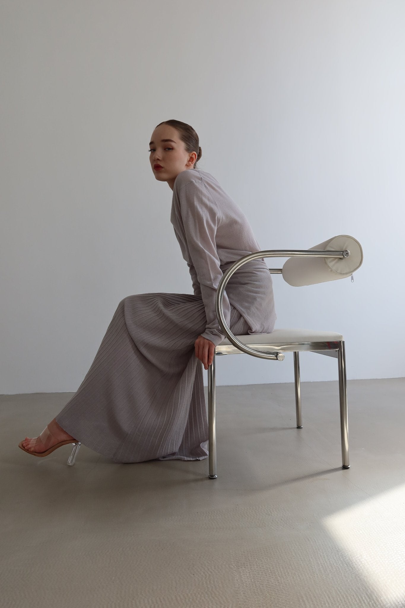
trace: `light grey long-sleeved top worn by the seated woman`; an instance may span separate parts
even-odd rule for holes
[[[215,310],[223,272],[239,258],[262,249],[242,210],[210,173],[200,169],[177,175],[170,221],[189,267],[194,295],[202,296],[205,307],[207,324],[201,335],[217,346],[225,338]],[[273,331],[273,283],[265,258],[251,260],[234,272],[222,302],[228,326],[231,304],[249,323],[249,333]]]

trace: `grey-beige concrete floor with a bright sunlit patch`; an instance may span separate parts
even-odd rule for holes
[[[73,393],[0,397],[1,606],[405,606],[405,379],[217,387],[202,461],[120,465],[18,443]]]

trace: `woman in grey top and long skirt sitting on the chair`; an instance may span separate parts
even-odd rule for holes
[[[38,437],[19,444],[29,454],[80,441],[117,463],[208,456],[202,364],[207,370],[225,337],[216,291],[223,271],[260,247],[239,207],[197,168],[202,153],[191,126],[160,123],[149,153],[155,179],[173,191],[171,223],[194,294],[121,300],[75,395]],[[233,274],[223,312],[235,335],[273,331],[273,286],[264,258]]]

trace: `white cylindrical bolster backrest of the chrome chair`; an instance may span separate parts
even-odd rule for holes
[[[324,249],[326,251],[344,251],[348,249],[348,258],[322,258],[291,257],[282,268],[284,280],[294,287],[303,285],[315,285],[326,281],[335,281],[338,278],[350,277],[353,272],[360,268],[363,261],[361,244],[347,234],[341,234],[330,238],[324,243],[319,243],[311,249]]]

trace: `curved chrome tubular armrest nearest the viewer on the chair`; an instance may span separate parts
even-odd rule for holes
[[[230,266],[230,268],[228,268],[228,270],[225,272],[222,279],[220,280],[218,288],[217,288],[217,294],[216,294],[216,298],[215,298],[215,309],[216,309],[216,313],[217,313],[218,322],[219,322],[219,325],[220,325],[223,333],[228,338],[228,340],[231,342],[231,344],[233,344],[234,347],[239,348],[239,350],[241,350],[242,353],[251,354],[254,357],[259,357],[260,359],[272,359],[273,361],[283,361],[283,359],[284,359],[283,353],[264,353],[263,351],[259,351],[259,350],[255,350],[254,348],[250,348],[246,344],[242,344],[242,342],[239,342],[239,340],[236,338],[236,336],[234,336],[234,334],[231,332],[228,325],[226,325],[225,317],[223,316],[223,307],[222,307],[223,292],[225,291],[226,283],[228,283],[231,276],[234,274],[234,272],[237,271],[237,269],[240,268],[240,266],[243,266],[243,264],[246,264],[250,260],[256,260],[257,258],[290,258],[293,256],[300,256],[300,257],[318,256],[318,257],[324,257],[324,258],[327,258],[327,257],[347,258],[347,257],[349,257],[349,255],[350,255],[350,251],[348,251],[348,250],[325,251],[324,249],[291,249],[291,250],[267,249],[264,251],[254,252],[253,254],[245,255],[245,257],[240,258],[240,260],[237,260],[232,266]]]

